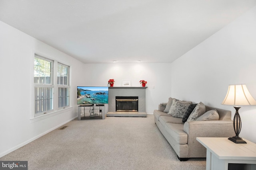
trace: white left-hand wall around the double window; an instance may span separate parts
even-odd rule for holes
[[[77,117],[76,86],[84,64],[0,21],[0,157]],[[71,69],[71,107],[44,119],[33,115],[33,55],[38,51]]]

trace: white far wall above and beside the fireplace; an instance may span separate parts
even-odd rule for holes
[[[132,87],[140,87],[146,80],[146,113],[152,114],[158,104],[168,102],[170,97],[170,63],[110,63],[85,64],[84,84],[81,86],[122,86],[122,80],[131,80]]]

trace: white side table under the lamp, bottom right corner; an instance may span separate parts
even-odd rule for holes
[[[234,143],[227,137],[197,137],[206,147],[206,170],[228,170],[228,164],[247,164],[246,169],[256,169],[256,144]]]

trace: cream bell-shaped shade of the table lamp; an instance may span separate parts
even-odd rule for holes
[[[232,84],[221,104],[232,106],[256,105],[256,101],[248,91],[245,84]]]

